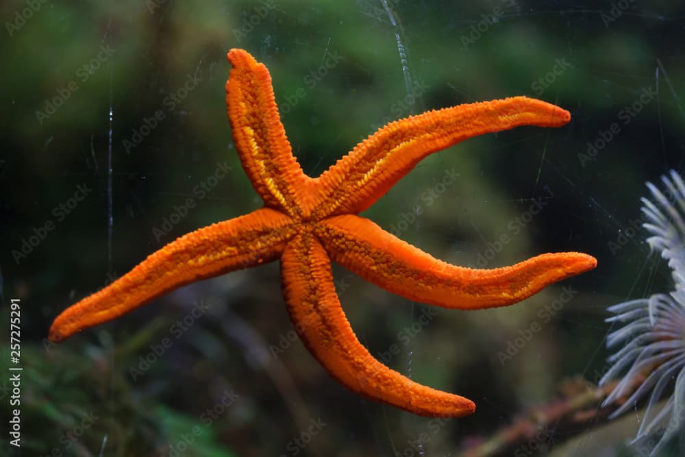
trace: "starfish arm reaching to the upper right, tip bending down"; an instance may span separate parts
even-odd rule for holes
[[[366,210],[420,160],[473,136],[520,125],[560,127],[571,114],[527,97],[468,103],[389,123],[358,144],[319,178],[312,214]]]

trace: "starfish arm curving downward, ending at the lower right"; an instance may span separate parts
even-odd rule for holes
[[[351,391],[422,416],[461,417],[475,411],[471,400],[418,384],[369,354],[340,307],[330,259],[311,233],[288,243],[281,275],[295,330],[314,358]]]

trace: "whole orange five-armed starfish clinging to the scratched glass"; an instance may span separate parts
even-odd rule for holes
[[[226,105],[245,173],[264,207],[186,234],[103,290],[67,308],[50,329],[62,341],[175,288],[229,271],[281,261],[283,294],[303,343],[341,384],[417,415],[460,417],[471,400],[423,386],[373,358],[352,331],[334,288],[332,260],[412,301],[475,310],[507,306],[593,269],[597,260],[543,254],[512,267],[448,264],[357,214],[431,153],[519,125],[559,127],[571,115],[527,97],[469,103],[389,123],[317,178],[292,156],[264,64],[232,49]]]

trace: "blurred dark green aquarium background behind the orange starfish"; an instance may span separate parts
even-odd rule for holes
[[[21,455],[460,455],[553,404],[569,379],[597,382],[606,306],[671,288],[634,227],[645,181],[683,169],[680,2],[36,0],[0,12],[0,365],[19,298]],[[455,264],[583,251],[595,271],[510,308],[463,312],[334,268],[371,353],[473,399],[475,415],[435,421],[346,391],[293,338],[277,262],[47,344],[73,302],[177,236],[260,207],[225,114],[233,47],[269,68],[310,175],[384,123],[429,109],[529,95],[571,111],[559,129],[521,127],[434,154],[364,215]],[[215,181],[219,164],[229,172]],[[188,198],[195,207],[179,210]],[[516,338],[525,344],[508,353]],[[516,455],[574,436],[586,436],[577,455],[632,455],[623,443],[636,417],[593,439],[604,424],[554,423]],[[19,455],[7,441],[0,453]]]

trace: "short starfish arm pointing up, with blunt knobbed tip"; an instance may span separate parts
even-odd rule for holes
[[[301,212],[297,189],[311,178],[292,156],[269,70],[242,49],[232,49],[227,57],[233,68],[226,82],[226,108],[242,168],[266,206],[296,216]]]

